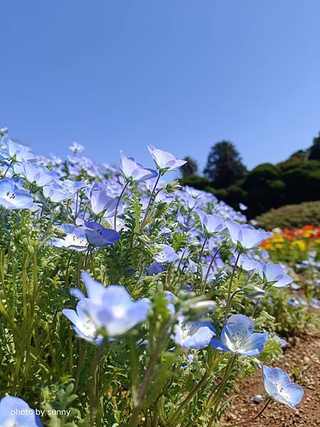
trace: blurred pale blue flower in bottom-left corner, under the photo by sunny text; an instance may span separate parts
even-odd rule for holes
[[[0,400],[1,427],[41,427],[40,418],[23,399],[4,396]]]

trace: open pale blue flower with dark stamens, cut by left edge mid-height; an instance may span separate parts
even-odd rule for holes
[[[33,196],[28,191],[19,189],[13,179],[0,181],[0,206],[6,209],[31,209]]]

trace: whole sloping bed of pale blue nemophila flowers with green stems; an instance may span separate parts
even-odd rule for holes
[[[302,387],[268,364],[316,322],[319,246],[287,270],[272,233],[169,181],[174,154],[116,169],[70,149],[1,139],[0,426],[215,426],[257,371],[261,412],[295,408]]]

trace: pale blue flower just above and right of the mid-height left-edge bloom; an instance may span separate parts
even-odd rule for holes
[[[37,186],[50,184],[54,179],[59,179],[60,174],[55,171],[49,171],[42,164],[31,162],[21,162],[14,165],[14,172],[24,176],[31,184],[36,183]]]

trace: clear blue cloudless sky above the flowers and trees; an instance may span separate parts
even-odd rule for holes
[[[0,127],[35,152],[97,162],[146,144],[247,167],[320,130],[319,0],[1,2]]]

